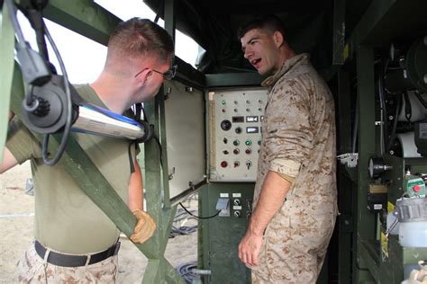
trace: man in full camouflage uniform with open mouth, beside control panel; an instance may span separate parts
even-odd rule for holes
[[[262,83],[268,104],[254,211],[239,245],[253,283],[315,283],[337,215],[332,93],[284,34],[275,16],[239,33],[245,58],[259,74],[273,74]]]

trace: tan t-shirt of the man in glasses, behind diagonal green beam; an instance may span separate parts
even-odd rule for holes
[[[86,102],[106,109],[88,84],[75,87]],[[89,134],[72,136],[127,203],[131,141]],[[117,241],[119,230],[79,188],[60,161],[54,166],[43,164],[40,143],[21,121],[12,121],[6,146],[20,164],[31,159],[35,186],[34,236],[41,244],[61,253],[79,254],[104,251]],[[131,151],[134,159],[134,146]]]

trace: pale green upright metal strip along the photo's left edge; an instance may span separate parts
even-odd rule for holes
[[[3,148],[7,135],[9,101],[14,75],[14,29],[7,9],[3,9],[2,29],[0,31],[0,162],[3,161]]]

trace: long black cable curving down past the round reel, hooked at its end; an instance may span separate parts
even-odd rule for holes
[[[57,154],[51,159],[49,160],[48,158],[48,146],[49,146],[49,135],[50,134],[45,134],[43,137],[43,162],[44,164],[48,164],[48,165],[54,165],[57,164],[59,161],[59,158],[62,156],[62,154],[65,151],[65,147],[67,146],[67,142],[68,142],[68,136],[69,133],[71,131],[71,125],[72,125],[72,110],[73,110],[73,105],[71,102],[71,92],[69,90],[69,84],[68,84],[68,75],[67,75],[67,70],[65,68],[64,62],[62,61],[62,58],[59,54],[59,50],[57,49],[57,46],[55,44],[55,42],[53,41],[52,37],[50,36],[50,32],[48,30],[48,27],[44,24],[44,31],[46,32],[46,36],[50,42],[50,46],[53,49],[53,52],[55,53],[55,56],[58,58],[58,62],[59,62],[59,67],[61,69],[62,72],[62,78],[64,81],[64,87],[65,87],[65,93],[66,93],[66,99],[67,99],[67,119],[66,119],[66,123],[65,123],[65,127],[64,127],[64,134],[62,135],[59,147],[58,147],[58,151]]]

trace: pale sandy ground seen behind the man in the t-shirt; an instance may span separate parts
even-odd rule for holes
[[[29,163],[19,165],[0,175],[0,283],[16,283],[15,265],[32,242],[34,198],[25,194],[26,180],[31,178]],[[197,202],[185,202],[196,209]],[[182,226],[186,220],[176,223]],[[194,226],[188,219],[185,226]],[[125,237],[121,237],[118,283],[141,283],[146,257]],[[170,238],[166,258],[174,267],[195,262],[197,258],[197,233],[176,235]]]

